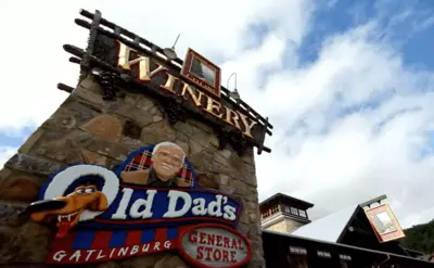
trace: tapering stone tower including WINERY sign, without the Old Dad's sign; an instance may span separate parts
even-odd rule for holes
[[[217,91],[207,90],[208,86],[200,87],[193,76],[181,75],[186,63],[168,59],[163,49],[102,18],[100,12],[81,10],[80,14],[90,20],[75,21],[90,31],[88,48],[64,46],[74,54],[71,62],[80,64],[78,85],[58,86],[71,94],[0,171],[2,267],[48,266],[48,256],[56,243],[56,226],[30,220],[26,207],[47,199],[50,187],[44,184],[51,183],[50,178],[55,180],[55,174],[74,164],[115,171],[131,152],[165,141],[182,149],[189,167],[195,171],[196,187],[230,194],[242,203],[237,230],[246,237],[252,248],[243,267],[265,267],[253,148],[259,154],[270,152],[264,140],[267,133],[271,135],[271,125],[242,100],[231,99],[220,85],[214,87],[217,95]],[[217,74],[219,81],[219,69]],[[67,190],[64,192],[66,196]],[[68,194],[73,196],[75,192]],[[116,196],[119,194],[120,191]],[[231,246],[234,247],[243,246]],[[117,259],[111,255],[94,264],[86,263],[94,258],[87,253],[88,258],[84,252],[69,257],[80,258],[77,266],[82,267],[196,267],[174,250],[125,258],[118,253]],[[62,254],[67,253],[52,259],[62,263],[67,258]]]

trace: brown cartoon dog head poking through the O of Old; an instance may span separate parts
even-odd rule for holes
[[[107,199],[95,186],[80,186],[66,196],[34,202],[27,207],[34,221],[58,220],[56,239],[66,237],[69,229],[78,224],[85,209],[93,212],[107,209]]]

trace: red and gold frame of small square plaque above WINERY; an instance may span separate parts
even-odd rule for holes
[[[199,61],[202,65],[205,65],[206,67],[214,71],[215,74],[214,84],[192,73],[191,67],[193,66],[194,60]],[[189,81],[194,84],[194,86],[197,86],[201,89],[204,89],[206,92],[210,93],[212,95],[220,99],[220,86],[221,86],[220,73],[221,73],[220,68],[217,65],[209,62],[203,55],[199,54],[197,52],[189,48],[186,54],[184,64],[182,65],[181,76],[183,76]]]

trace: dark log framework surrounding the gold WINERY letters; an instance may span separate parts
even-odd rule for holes
[[[98,10],[94,14],[87,10],[80,10],[79,13],[86,18],[91,20],[91,22],[81,18],[75,20],[77,25],[89,29],[90,35],[87,49],[85,51],[72,44],[64,44],[63,49],[74,55],[69,59],[69,62],[80,64],[80,81],[91,74],[93,67],[100,67],[103,71],[104,74],[101,74],[101,77],[95,78],[98,79],[100,86],[102,86],[102,95],[104,97],[104,100],[116,100],[117,98],[124,98],[126,92],[137,93],[138,90],[145,89],[149,97],[155,98],[162,103],[166,119],[168,119],[171,124],[178,120],[184,120],[186,116],[191,116],[213,126],[214,130],[219,137],[220,148],[224,148],[227,143],[230,143],[237,151],[239,151],[240,154],[242,154],[242,152],[248,146],[256,146],[257,154],[261,154],[261,152],[271,152],[271,149],[265,146],[264,144],[266,136],[272,136],[272,125],[268,122],[268,117],[264,118],[243,100],[232,100],[229,97],[230,91],[221,85],[218,87],[219,95],[213,94],[212,92],[207,93],[208,90],[204,91],[206,95],[216,100],[219,97],[220,99],[218,101],[221,104],[226,103],[225,105],[235,107],[235,110],[241,111],[250,119],[257,123],[257,126],[261,128],[261,131],[256,132],[254,138],[251,139],[252,137],[248,138],[243,136],[239,129],[229,126],[225,122],[216,119],[215,116],[203,113],[202,110],[192,109],[188,105],[188,103],[183,102],[183,98],[161,92],[158,85],[143,85],[142,82],[138,82],[131,77],[130,74],[119,71],[116,66],[114,66],[112,58],[115,58],[116,55],[113,54],[113,51],[110,52],[113,50],[113,48],[111,48],[112,44],[108,44],[111,42],[110,39],[120,41],[143,55],[150,56],[151,59],[156,59],[157,62],[164,63],[165,67],[167,67],[171,74],[175,76],[180,76],[182,77],[182,80],[189,81],[191,86],[195,86],[194,82],[191,82],[188,78],[180,74],[182,68],[186,67],[182,60],[178,58],[171,60],[167,59],[164,55],[164,50],[162,48],[105,18],[102,18],[101,12]],[[199,53],[196,54],[201,56]],[[207,61],[204,58],[202,60]],[[214,65],[210,62],[207,63],[209,65]],[[215,68],[219,71],[217,66],[215,66]],[[216,80],[220,82],[220,72],[218,72],[216,77]],[[59,85],[58,88],[68,92],[73,89],[71,87],[64,87],[64,85]],[[201,90],[203,90],[203,88],[201,88]],[[220,94],[221,91],[224,91],[224,93]],[[173,104],[175,104],[174,107],[168,107]]]

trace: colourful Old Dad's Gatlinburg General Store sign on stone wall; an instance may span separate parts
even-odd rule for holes
[[[27,208],[33,220],[56,225],[47,263],[97,263],[174,250],[180,233],[200,222],[226,231],[219,234],[225,238],[215,238],[221,253],[210,255],[220,259],[214,264],[206,257],[208,250],[203,250],[205,258],[196,259],[202,267],[245,263],[248,241],[233,230],[241,203],[197,188],[184,155],[177,144],[162,142],[131,153],[115,173],[95,165],[74,165],[53,176],[42,188],[40,201]],[[213,234],[209,228],[205,231]],[[235,237],[234,242],[226,239]]]

